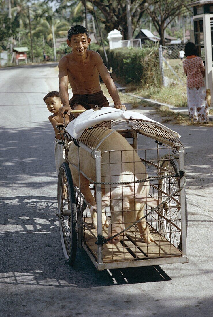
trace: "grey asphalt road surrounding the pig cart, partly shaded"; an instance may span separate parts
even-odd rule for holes
[[[170,126],[186,149],[188,264],[97,272],[78,249],[70,267],[55,216],[54,132],[42,100],[58,90],[54,67],[0,69],[0,316],[212,316],[212,129]]]

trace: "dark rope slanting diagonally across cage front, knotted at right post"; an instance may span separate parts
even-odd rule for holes
[[[174,176],[172,176],[174,177]],[[180,179],[182,177],[184,177],[184,171],[182,170],[179,170],[176,174],[175,174],[175,177],[179,177]],[[166,178],[166,177],[164,177]],[[162,178],[159,178],[159,179],[162,179]],[[138,181],[137,181],[138,182]],[[131,182],[132,183],[132,182]],[[155,210],[157,210],[160,206],[162,206],[163,204],[165,204],[165,202],[167,202],[171,197],[174,197],[178,192],[180,192],[186,185],[186,178],[184,177],[184,184],[177,190],[175,191],[173,194],[171,194],[170,196],[168,196],[164,201],[162,201],[157,207],[155,208],[152,208],[150,212],[148,212],[145,216],[141,217],[139,220],[135,221],[134,223],[132,223],[130,226],[128,226],[126,229],[120,231],[119,233],[117,233],[116,235],[114,236],[111,236],[107,239],[105,239],[104,236],[102,235],[98,235],[97,237],[97,241],[95,242],[95,244],[105,244],[107,243],[108,241],[112,240],[113,238],[121,235],[122,233],[124,233],[125,231],[129,230],[130,228],[134,227],[137,223],[141,222],[142,219],[146,218],[147,216],[151,215]]]

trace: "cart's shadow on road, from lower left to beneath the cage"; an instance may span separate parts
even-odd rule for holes
[[[0,225],[0,284],[91,288],[171,280],[159,266],[98,272],[83,249],[70,267],[62,254],[55,197],[0,197],[0,203],[7,215]]]

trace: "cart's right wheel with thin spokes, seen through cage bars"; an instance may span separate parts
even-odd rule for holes
[[[179,165],[173,157],[165,158],[161,164],[166,171],[161,171],[161,175],[175,175],[179,171]],[[180,188],[180,178],[172,177],[160,180],[160,197],[164,201],[169,195]],[[185,192],[185,188],[184,188]],[[185,196],[185,220],[187,232],[187,204]],[[160,221],[160,231],[165,238],[182,250],[181,239],[181,207],[180,195],[171,197],[162,208],[162,221]],[[168,220],[167,220],[168,219]]]

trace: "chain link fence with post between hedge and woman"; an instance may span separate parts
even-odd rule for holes
[[[164,86],[173,83],[186,83],[183,70],[184,44],[159,45],[159,65]]]

